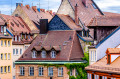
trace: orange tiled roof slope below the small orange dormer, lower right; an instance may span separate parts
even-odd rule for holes
[[[105,56],[96,63],[86,67],[85,70],[120,74],[120,56],[109,65],[107,64],[107,56]]]

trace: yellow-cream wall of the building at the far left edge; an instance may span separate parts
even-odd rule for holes
[[[1,40],[3,40],[3,46],[1,46]],[[4,40],[7,40],[7,46],[4,46]],[[10,46],[8,46],[8,40],[10,40]],[[4,55],[3,55],[3,60],[1,60],[1,53],[5,54],[7,53],[7,59],[4,59]],[[8,60],[8,53],[11,54],[11,58],[10,60]],[[4,67],[4,66],[10,66],[11,67],[11,71],[8,72],[8,68],[7,68],[7,73],[1,73],[0,72],[0,79],[12,79],[12,39],[0,39],[0,67]]]

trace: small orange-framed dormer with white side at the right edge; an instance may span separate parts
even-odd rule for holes
[[[111,64],[120,56],[120,48],[108,48],[107,54],[107,64]]]

